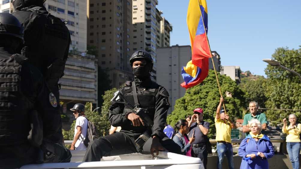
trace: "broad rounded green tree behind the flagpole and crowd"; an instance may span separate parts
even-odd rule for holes
[[[242,118],[246,104],[245,93],[230,77],[218,74],[218,78],[230,118],[233,121],[236,118]],[[225,97],[225,92],[230,92],[232,97]],[[207,78],[202,83],[187,89],[184,97],[176,100],[174,111],[167,117],[167,123],[173,126],[179,119],[185,119],[186,116],[191,115],[195,108],[201,107],[204,110],[203,119],[210,123],[208,136],[213,138],[216,133],[214,118],[219,98],[214,71],[209,70]]]

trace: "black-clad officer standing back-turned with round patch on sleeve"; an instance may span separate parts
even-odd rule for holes
[[[51,92],[60,102],[58,84],[64,75],[70,45],[70,33],[65,23],[48,13],[45,0],[14,0],[13,15],[24,27],[24,44],[18,53],[29,58],[44,76]],[[57,110],[45,116],[44,137],[63,142],[60,104]]]

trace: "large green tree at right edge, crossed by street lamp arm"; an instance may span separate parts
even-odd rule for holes
[[[272,55],[272,59],[278,60],[281,65],[301,74],[301,48],[297,50],[289,50],[287,47],[278,48]],[[265,102],[267,108],[301,109],[301,83],[295,74],[271,65],[265,68],[265,74],[268,77],[265,90],[265,95],[268,98]],[[296,114],[297,119],[301,118],[300,112],[266,111],[268,119],[278,122],[281,122],[285,117],[287,118],[290,113]]]

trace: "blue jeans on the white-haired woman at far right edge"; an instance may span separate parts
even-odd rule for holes
[[[290,162],[292,162],[293,169],[299,169],[299,153],[300,153],[300,142],[287,142],[286,149],[288,156],[290,156]]]

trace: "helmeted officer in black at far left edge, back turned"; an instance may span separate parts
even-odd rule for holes
[[[14,54],[22,43],[23,26],[13,15],[0,13],[0,168],[69,162],[69,150],[43,141],[42,118],[56,110],[57,100],[39,69]]]

